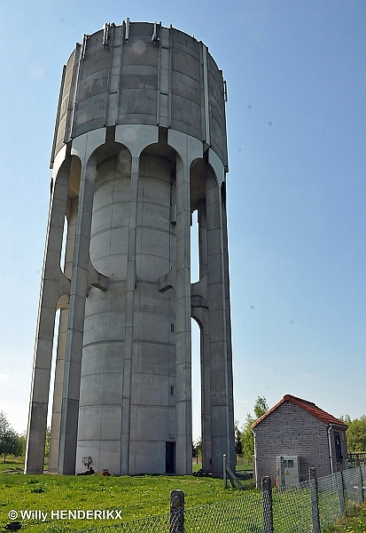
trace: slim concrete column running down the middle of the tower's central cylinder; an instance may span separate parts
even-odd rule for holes
[[[131,187],[128,225],[127,290],[125,320],[125,352],[122,377],[122,420],[121,420],[121,465],[120,473],[129,472],[131,381],[134,333],[134,308],[136,288],[136,226],[138,200],[139,157],[132,157]]]

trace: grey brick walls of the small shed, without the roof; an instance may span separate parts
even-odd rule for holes
[[[331,473],[328,426],[294,403],[287,401],[279,405],[267,418],[255,427],[256,479],[269,475],[275,483],[276,457],[300,456],[300,481],[308,480],[308,469],[315,467],[321,477]],[[339,431],[343,457],[347,458],[345,432]],[[331,430],[334,433],[334,430]],[[331,434],[332,457],[336,472],[334,435]]]

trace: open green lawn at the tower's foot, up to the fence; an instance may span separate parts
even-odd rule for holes
[[[6,469],[21,465],[2,465]],[[4,472],[4,468],[0,471]],[[0,528],[11,521],[8,513],[15,510],[19,521],[28,531],[55,531],[59,526],[68,530],[86,529],[113,521],[78,521],[51,519],[51,511],[62,510],[121,510],[122,521],[168,513],[169,496],[173,489],[182,489],[186,509],[196,505],[238,498],[243,491],[223,489],[222,480],[194,476],[58,476],[51,474],[24,475],[0,473]],[[21,511],[48,513],[44,522],[21,519]],[[120,520],[121,521],[121,520]],[[55,526],[57,526],[55,528]],[[60,530],[60,529],[59,529]]]

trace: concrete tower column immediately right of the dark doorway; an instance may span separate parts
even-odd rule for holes
[[[190,168],[176,158],[176,473],[191,473],[191,202]]]

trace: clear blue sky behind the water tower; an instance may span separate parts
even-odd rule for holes
[[[364,0],[20,0],[0,15],[0,410],[12,426],[27,426],[62,66],[84,33],[126,17],[202,40],[228,83],[236,418],[284,394],[365,414]]]

